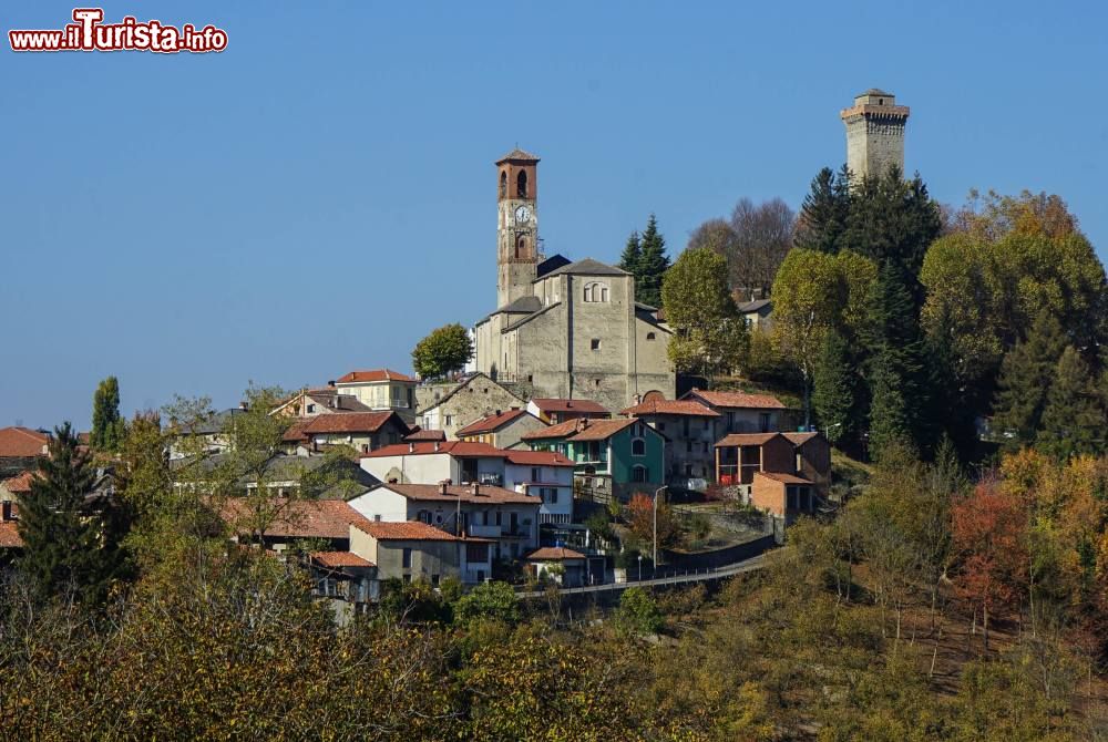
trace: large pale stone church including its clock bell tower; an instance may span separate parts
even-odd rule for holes
[[[497,309],[474,328],[476,370],[533,396],[584,399],[623,410],[649,392],[673,399],[670,329],[635,301],[630,274],[591,258],[544,258],[538,157],[496,161]]]

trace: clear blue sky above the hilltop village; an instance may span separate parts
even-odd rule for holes
[[[1108,246],[1100,3],[131,1],[220,54],[0,50],[0,425],[84,427],[174,393],[237,403],[410,369],[495,301],[495,172],[542,156],[547,253],[671,251],[733,203],[800,205],[852,95],[912,107],[935,197],[1060,194]],[[62,28],[72,4],[0,9]]]

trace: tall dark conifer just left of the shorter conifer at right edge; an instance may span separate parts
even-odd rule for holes
[[[1061,324],[1049,311],[1039,312],[1027,339],[1001,362],[993,429],[1007,450],[1032,445],[1038,434],[1055,367],[1066,348]]]

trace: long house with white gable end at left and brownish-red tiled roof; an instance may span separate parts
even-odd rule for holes
[[[490,539],[496,558],[517,559],[538,546],[542,501],[504,487],[390,483],[349,504],[369,521],[417,521],[459,537]]]

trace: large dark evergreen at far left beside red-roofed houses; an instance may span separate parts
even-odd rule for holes
[[[69,423],[54,430],[49,454],[39,460],[30,492],[19,496],[19,568],[41,598],[72,590],[81,602],[96,604],[125,576],[120,544],[129,521],[114,504],[86,499],[96,471]]]

